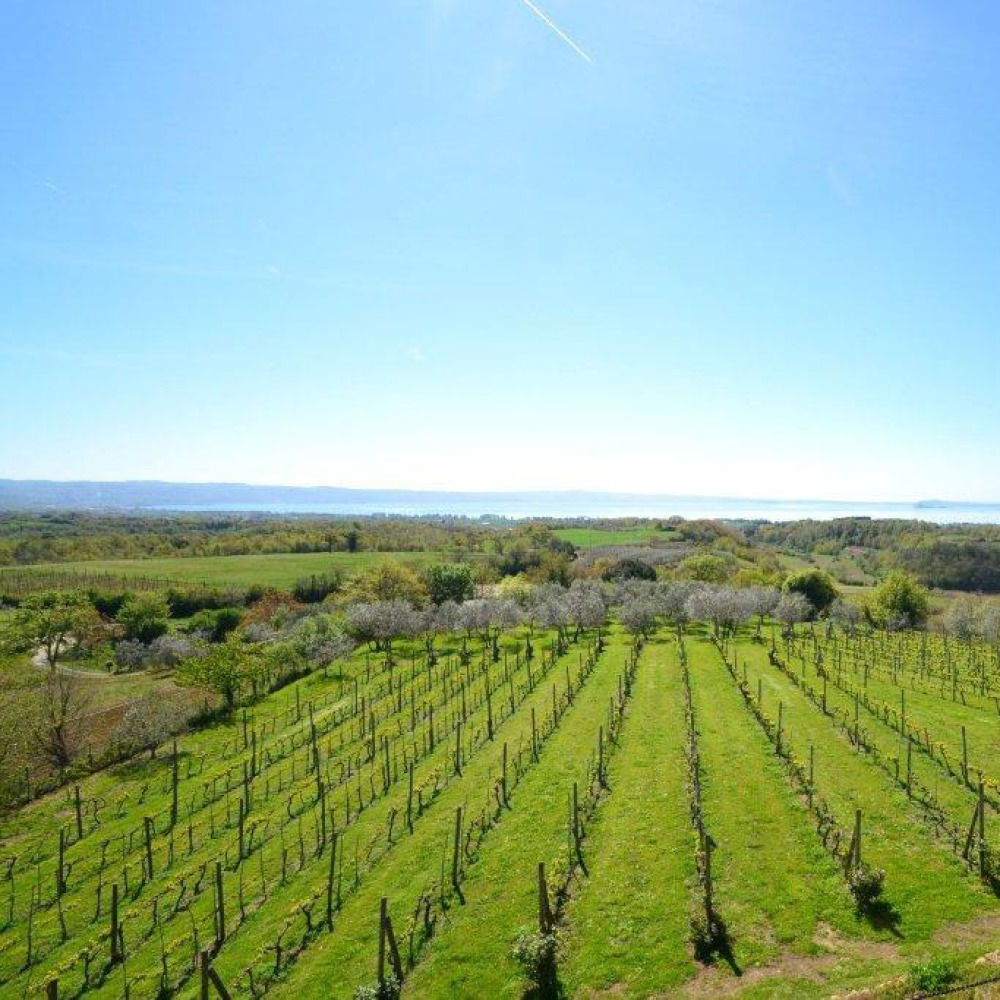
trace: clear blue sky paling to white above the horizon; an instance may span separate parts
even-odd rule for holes
[[[998,38],[4,0],[0,477],[1000,499]]]

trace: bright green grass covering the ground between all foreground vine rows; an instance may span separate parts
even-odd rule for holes
[[[230,557],[240,558],[240,557]],[[271,557],[251,557],[271,558]],[[551,637],[536,636],[541,653]],[[496,739],[486,734],[485,675],[481,641],[473,641],[468,668],[451,657],[459,637],[442,637],[442,661],[429,690],[423,685],[426,669],[419,642],[402,643],[393,691],[402,707],[386,692],[387,675],[376,669],[365,674],[366,655],[359,650],[346,668],[347,681],[332,673],[312,675],[262,700],[249,713],[249,729],[256,730],[257,746],[267,766],[256,779],[251,810],[254,822],[269,824],[264,848],[255,849],[237,868],[236,802],[240,797],[241,767],[250,752],[244,746],[240,717],[190,734],[180,741],[182,822],[171,834],[164,818],[170,801],[169,751],[156,760],[143,758],[81,781],[87,807],[87,829],[82,841],[75,836],[71,788],[47,796],[0,822],[0,861],[17,856],[14,884],[0,881],[0,995],[38,995],[48,971],[59,968],[60,995],[78,995],[80,964],[85,944],[97,948],[103,965],[107,941],[108,887],[123,882],[129,872],[132,892],[123,898],[126,918],[126,974],[132,996],[151,996],[159,975],[161,940],[152,927],[153,900],[159,897],[162,944],[170,976],[184,979],[180,996],[194,997],[197,983],[190,978],[194,933],[199,945],[212,936],[212,894],[203,887],[191,899],[190,912],[174,912],[178,892],[198,878],[202,866],[228,858],[225,893],[228,936],[215,966],[235,995],[248,995],[245,970],[273,968],[274,944],[283,927],[286,949],[301,954],[283,970],[268,995],[309,1000],[350,998],[354,989],[375,977],[377,914],[387,897],[404,961],[408,952],[410,918],[421,894],[441,877],[450,863],[455,809],[463,807],[466,822],[493,815],[491,791],[499,771],[501,748],[507,742],[512,759],[521,761],[519,780],[510,807],[487,828],[477,850],[465,865],[463,900],[445,888],[445,906],[437,909],[433,936],[414,952],[404,995],[413,998],[521,997],[527,982],[513,960],[511,947],[521,927],[532,927],[537,913],[536,865],[550,870],[563,857],[567,841],[567,797],[574,781],[586,783],[596,748],[598,727],[607,724],[608,702],[617,690],[628,642],[612,630],[608,649],[562,713],[558,725],[546,730],[540,759],[531,761],[531,709],[539,719],[551,715],[552,687],[565,690],[566,669],[575,669],[583,645],[550,668],[543,679],[540,658],[533,667],[536,686],[529,690],[527,667],[514,665],[512,651],[523,643],[523,633],[508,636],[512,678],[517,690],[513,713],[498,711],[504,695],[497,693],[503,663],[492,664]],[[767,647],[746,633],[734,645],[740,669],[747,664],[749,684],[756,691],[762,681],[765,710],[777,714],[783,705],[784,739],[799,759],[816,746],[816,784],[841,825],[854,810],[864,817],[866,861],[885,868],[886,898],[898,916],[895,923],[873,925],[857,916],[843,878],[822,847],[804,802],[793,789],[783,765],[761,727],[744,704],[736,682],[718,651],[692,626],[686,640],[694,693],[703,770],[704,807],[708,831],[717,843],[714,854],[715,902],[731,935],[732,957],[743,975],[737,978],[727,964],[699,967],[688,941],[688,918],[695,912],[699,889],[694,874],[694,834],[688,812],[685,721],[682,680],[675,640],[654,637],[640,657],[632,698],[623,728],[609,752],[609,791],[588,821],[584,841],[587,875],[571,883],[563,912],[564,947],[559,974],[567,997],[681,996],[738,992],[741,997],[828,997],[905,973],[915,962],[946,956],[966,961],[996,947],[1000,902],[988,893],[922,822],[918,807],[866,756],[859,754],[805,695],[767,661]],[[806,647],[803,647],[806,648]],[[811,649],[811,643],[808,645]],[[913,648],[904,646],[912,660]],[[780,647],[779,647],[780,649]],[[410,653],[417,656],[416,671]],[[381,656],[372,658],[375,665]],[[797,662],[797,661],[796,661]],[[23,664],[21,664],[23,668]],[[20,669],[8,664],[7,669]],[[450,671],[449,679],[445,679]],[[852,674],[853,676],[853,674]],[[452,773],[454,734],[440,736],[437,749],[418,753],[417,786],[437,775],[441,790],[417,817],[412,833],[400,818],[405,812],[405,767],[387,789],[354,811],[345,825],[348,792],[355,795],[357,778],[338,779],[341,764],[357,768],[364,788],[378,781],[381,757],[367,757],[366,734],[359,717],[340,719],[339,708],[350,708],[352,678],[366,698],[366,718],[374,711],[379,734],[391,741],[399,755],[420,747],[426,716],[417,712],[411,728],[410,695],[421,709],[433,698],[442,732],[459,712],[458,685],[468,697],[468,721],[463,727],[466,748],[461,776]],[[810,674],[812,677],[812,674]],[[150,679],[94,680],[109,689],[119,683],[149,683]],[[402,682],[397,688],[396,683]],[[878,690],[892,694],[893,686],[872,678]],[[124,690],[124,689],[123,689]],[[308,712],[298,716],[296,694],[303,707],[315,701],[321,730],[323,766],[330,781],[329,805],[346,846],[343,907],[333,931],[325,928],[305,936],[302,906],[322,894],[329,850],[316,849],[314,829],[315,778],[309,773]],[[398,697],[399,695],[397,695]],[[955,725],[970,727],[974,747],[995,739],[997,722],[981,708],[925,693],[907,692],[910,718],[924,719],[955,739]],[[846,696],[830,688],[831,703],[846,704]],[[879,745],[891,750],[895,736],[885,724],[862,724]],[[936,727],[936,728],[935,728]],[[294,762],[294,763],[293,763]],[[919,775],[932,782],[940,768],[915,756]],[[190,764],[190,774],[188,765]],[[220,794],[212,806],[203,802],[206,789],[227,771],[235,775],[233,791]],[[511,765],[513,770],[513,764]],[[282,790],[278,791],[280,779]],[[947,784],[947,787],[945,783]],[[224,786],[220,785],[220,789]],[[941,777],[941,799],[957,811],[970,810],[972,797],[960,785]],[[194,846],[187,846],[187,805],[191,803]],[[289,806],[301,804],[305,850],[299,861],[297,822],[288,819]],[[99,820],[92,809],[98,807]],[[227,822],[227,812],[230,814]],[[394,834],[388,837],[395,813]],[[153,881],[136,891],[144,856],[143,817],[156,823]],[[967,822],[963,816],[963,822]],[[992,813],[991,813],[992,819]],[[213,826],[215,829],[213,830]],[[54,905],[54,872],[60,828],[70,831],[68,859],[73,863],[63,898],[69,940],[60,941]],[[283,834],[279,835],[279,828]],[[101,845],[109,843],[104,874],[104,905],[95,917],[96,868]],[[282,875],[282,848],[290,852]],[[355,858],[357,857],[357,872]],[[3,868],[0,868],[2,871]],[[448,879],[445,878],[445,883]],[[243,883],[244,913],[239,893]],[[33,916],[34,944],[39,962],[25,970],[26,923],[31,898],[41,893],[43,906]],[[440,898],[435,889],[435,898]],[[14,920],[7,922],[10,894]],[[322,903],[319,910],[322,910]],[[417,921],[419,926],[420,921]],[[287,950],[285,952],[287,955]],[[95,966],[97,968],[98,966]],[[117,997],[122,993],[123,970],[115,969],[103,982],[79,994]]]

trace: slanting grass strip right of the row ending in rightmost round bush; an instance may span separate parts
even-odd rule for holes
[[[783,705],[786,740],[800,760],[815,745],[815,781],[841,824],[862,811],[862,857],[885,869],[885,898],[894,908],[887,937],[921,941],[949,921],[968,921],[1000,909],[951,853],[920,822],[918,807],[892,779],[866,760],[797,687],[767,661],[764,646],[741,642],[734,650],[748,665],[751,689],[762,680],[764,709],[772,717]],[[725,669],[720,664],[720,669]],[[732,683],[732,681],[730,681]],[[735,690],[735,684],[733,685]]]

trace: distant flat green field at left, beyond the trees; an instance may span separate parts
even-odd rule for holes
[[[238,587],[291,587],[322,573],[351,576],[387,559],[416,568],[448,558],[440,552],[304,552],[252,556],[193,556],[176,559],[101,559],[93,562],[43,563],[18,568],[19,574],[74,574],[85,577],[170,581]],[[99,581],[97,581],[99,584]],[[0,588],[3,571],[0,570]]]

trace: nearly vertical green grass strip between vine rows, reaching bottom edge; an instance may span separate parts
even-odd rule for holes
[[[694,973],[684,724],[676,644],[651,640],[608,769],[611,793],[588,829],[590,876],[566,909],[560,972],[571,996],[645,997]]]

